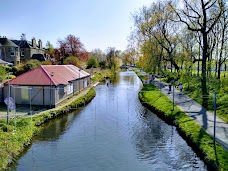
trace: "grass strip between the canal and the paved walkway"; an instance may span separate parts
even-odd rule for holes
[[[136,72],[143,80],[140,72]],[[219,144],[213,143],[213,138],[199,126],[191,117],[186,115],[171,100],[161,93],[153,84],[144,85],[139,93],[143,105],[158,114],[167,123],[175,125],[180,135],[193,147],[205,163],[215,170],[228,170],[228,153]]]

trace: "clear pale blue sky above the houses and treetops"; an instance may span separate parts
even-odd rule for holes
[[[50,41],[72,34],[87,51],[108,47],[125,50],[132,14],[152,0],[0,0],[0,36]]]

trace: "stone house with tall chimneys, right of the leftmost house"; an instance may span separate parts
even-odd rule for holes
[[[36,59],[37,54],[39,54],[39,56],[44,57],[45,49],[43,48],[42,41],[40,39],[38,41],[38,44],[35,38],[32,38],[31,42],[27,40],[12,40],[12,41],[20,47],[21,61]],[[34,58],[33,56],[36,56],[36,57]]]

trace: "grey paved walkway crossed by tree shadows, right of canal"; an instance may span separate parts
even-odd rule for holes
[[[141,72],[145,75],[145,72]],[[173,101],[173,87],[168,94],[168,84],[155,79],[154,84],[161,87],[162,93]],[[174,102],[179,108],[194,119],[209,135],[214,136],[214,114],[207,111],[196,101],[184,95],[178,90],[174,90]],[[216,117],[216,141],[219,142],[228,151],[228,124]]]

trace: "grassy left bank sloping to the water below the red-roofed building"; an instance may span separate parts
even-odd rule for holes
[[[15,122],[13,120],[10,120],[9,125],[0,120],[0,170],[7,168],[9,163],[14,162],[15,158],[30,144],[32,137],[39,130],[38,126],[52,118],[73,111],[73,108],[84,106],[95,95],[94,88],[91,88],[85,96],[64,105],[62,108],[50,109],[34,115],[32,121],[30,117],[17,118],[16,130],[14,130]]]

